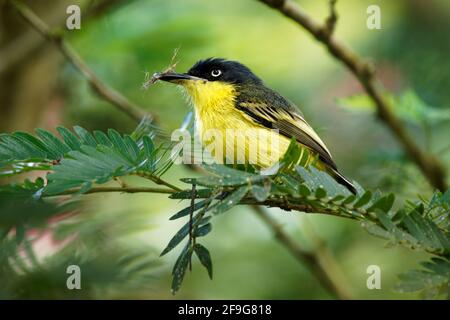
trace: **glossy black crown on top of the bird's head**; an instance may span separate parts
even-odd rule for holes
[[[200,60],[194,64],[188,71],[188,74],[209,81],[223,81],[236,84],[262,83],[261,79],[243,64],[221,58]]]

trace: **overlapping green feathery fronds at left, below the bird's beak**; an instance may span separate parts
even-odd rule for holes
[[[75,126],[74,132],[58,127],[53,133],[36,129],[34,137],[25,132],[0,135],[0,176],[32,170],[53,171],[48,175],[45,193],[56,195],[71,188],[87,192],[94,183],[144,171],[154,174],[156,154],[151,138],[140,134],[121,135],[110,129],[108,135]],[[162,164],[165,166],[165,164]]]

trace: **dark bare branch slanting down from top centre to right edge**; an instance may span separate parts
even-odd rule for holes
[[[445,172],[440,162],[432,155],[425,153],[410,138],[401,121],[392,111],[392,105],[384,98],[379,80],[375,76],[374,67],[361,60],[354,52],[333,37],[329,32],[329,23],[322,25],[308,16],[292,0],[259,0],[262,3],[278,10],[289,19],[298,23],[316,40],[323,43],[328,51],[338,61],[343,63],[358,79],[364,90],[374,102],[379,118],[388,126],[392,134],[403,146],[409,157],[420,168],[429,183],[441,190],[446,190]],[[333,3],[335,1],[331,1]],[[334,4],[331,4],[332,12]],[[333,14],[331,14],[333,16]],[[333,21],[333,19],[328,19]],[[334,27],[334,23],[332,23]]]

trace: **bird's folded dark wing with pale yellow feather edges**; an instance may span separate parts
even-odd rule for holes
[[[266,87],[246,88],[239,93],[236,107],[257,123],[317,152],[319,158],[337,170],[330,151],[317,133],[305,121],[300,111],[275,91]]]

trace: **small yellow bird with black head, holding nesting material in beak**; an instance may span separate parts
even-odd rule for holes
[[[244,146],[237,147],[232,141],[225,156],[236,160],[239,158],[236,154],[240,154],[248,160],[249,150],[258,144],[256,166],[269,168],[280,160],[291,140],[295,139],[302,152],[308,151],[308,159],[303,161],[303,165],[311,164],[328,172],[356,194],[353,184],[339,173],[330,151],[298,108],[266,87],[243,64],[209,58],[195,63],[187,73],[168,71],[157,74],[156,78],[184,87],[194,106],[196,132],[205,147],[210,145],[210,137],[206,137],[210,130],[219,131],[224,136],[229,130],[243,132],[243,135],[254,130],[258,134],[251,135]],[[276,139],[277,143],[267,143],[270,139]]]

